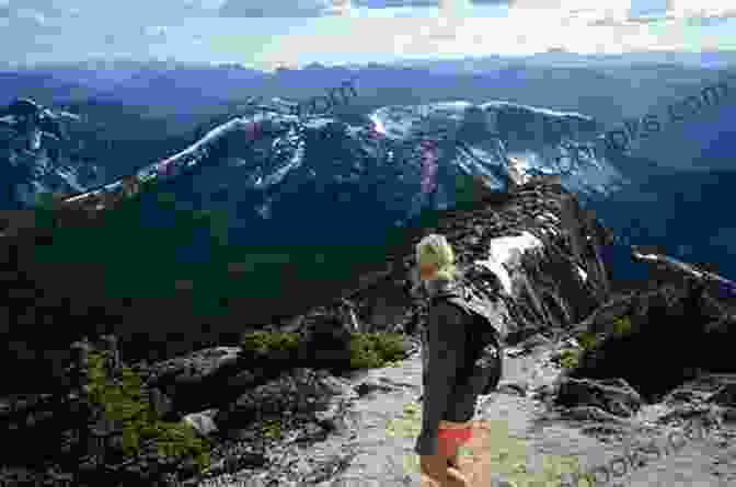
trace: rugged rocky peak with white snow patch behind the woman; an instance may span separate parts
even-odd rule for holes
[[[608,233],[575,196],[540,181],[491,195],[496,201],[439,211],[426,218],[427,225],[407,230],[406,240],[389,251],[387,267],[336,304],[344,320],[360,329],[404,331],[422,321],[411,270],[413,245],[428,232],[448,237],[464,278],[514,335],[564,329],[609,297]]]

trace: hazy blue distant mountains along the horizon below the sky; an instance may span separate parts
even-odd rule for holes
[[[87,90],[74,92],[79,94],[78,100],[94,97],[99,102],[148,106],[149,112],[176,115],[172,117],[174,120],[194,113],[214,115],[212,108],[221,101],[242,103],[250,96],[308,100],[353,79],[357,80],[360,96],[349,106],[341,108],[341,114],[365,115],[381,106],[440,102],[453,100],[462,93],[462,98],[471,103],[505,100],[584,113],[612,125],[623,118],[643,116],[658,102],[671,103],[681,95],[697,92],[717,71],[681,63],[557,67],[520,60],[488,65],[475,59],[468,61],[475,68],[467,70],[462,68],[464,61],[457,62],[460,62],[458,69],[442,72],[430,65],[369,63],[349,68],[315,65],[310,69],[284,69],[273,73],[232,66],[169,66],[156,62],[55,65],[3,73],[7,78],[0,80],[0,93],[31,96],[44,104],[59,104],[73,97],[64,86],[76,83]],[[13,77],[18,80],[13,81]],[[30,77],[43,77],[47,81],[26,82]],[[57,85],[60,88],[55,90]]]

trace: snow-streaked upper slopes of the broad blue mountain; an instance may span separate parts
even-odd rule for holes
[[[453,206],[463,174],[487,176],[496,189],[560,174],[563,186],[583,198],[610,195],[628,182],[599,150],[599,136],[590,117],[505,102],[387,106],[360,126],[273,109],[214,128],[136,178],[172,184],[177,201],[193,207],[226,210],[233,228],[300,220],[308,206],[403,224],[424,209]],[[184,173],[193,174],[177,177]],[[22,184],[31,192],[59,190],[38,177],[33,188]],[[130,185],[118,181],[71,200],[94,199],[100,207],[105,194],[124,188],[129,194]]]

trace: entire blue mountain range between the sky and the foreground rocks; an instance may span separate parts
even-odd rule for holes
[[[348,74],[358,80],[359,96],[330,117],[257,115],[242,103],[245,95],[269,93],[304,100]],[[620,278],[636,277],[626,246],[634,241],[656,242],[689,260],[717,260],[728,275],[736,273],[724,245],[731,224],[714,211],[725,205],[728,184],[705,184],[733,177],[725,165],[733,105],[668,127],[648,141],[658,153],[616,153],[600,144],[611,124],[623,119],[617,117],[642,116],[669,103],[665,95],[698,93],[722,74],[675,65],[519,65],[452,76],[379,65],[271,74],[237,67],[5,72],[0,93],[7,101],[35,95],[81,118],[69,124],[60,162],[49,161],[47,147],[13,148],[14,136],[7,135],[3,181],[12,182],[12,204],[31,208],[37,193],[84,194],[125,175],[150,174],[172,154],[186,153],[180,161],[189,176],[160,178],[156,190],[106,217],[104,232],[84,233],[84,244],[78,242],[82,230],[57,235],[43,258],[104,263],[105,292],[118,297],[206,288],[211,295],[196,294],[220,312],[252,291],[233,285],[233,273],[260,276],[258,292],[273,299],[289,266],[299,276],[295,282],[319,275],[338,287],[358,262],[381,260],[391,232],[461,202],[473,175],[504,190],[515,178],[559,174],[619,235]],[[249,135],[255,123],[268,127],[261,140]],[[687,130],[693,136],[683,137]],[[669,142],[678,134],[678,143]],[[435,146],[427,150],[422,141]],[[691,153],[717,152],[714,165],[710,158],[670,156],[670,146],[686,142]],[[427,159],[428,152],[434,155]],[[427,177],[433,182],[425,184]],[[14,208],[10,199],[5,205]],[[133,243],[124,237],[136,234]],[[141,266],[159,273],[141,283],[135,279]]]

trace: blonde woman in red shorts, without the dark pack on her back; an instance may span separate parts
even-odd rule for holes
[[[455,254],[444,235],[425,236],[416,246],[418,278],[429,297],[459,290]],[[478,394],[467,387],[467,329],[463,312],[447,302],[432,306],[423,336],[422,431],[414,448],[422,473],[441,487],[470,487],[459,471],[458,449],[470,440],[468,421]]]

